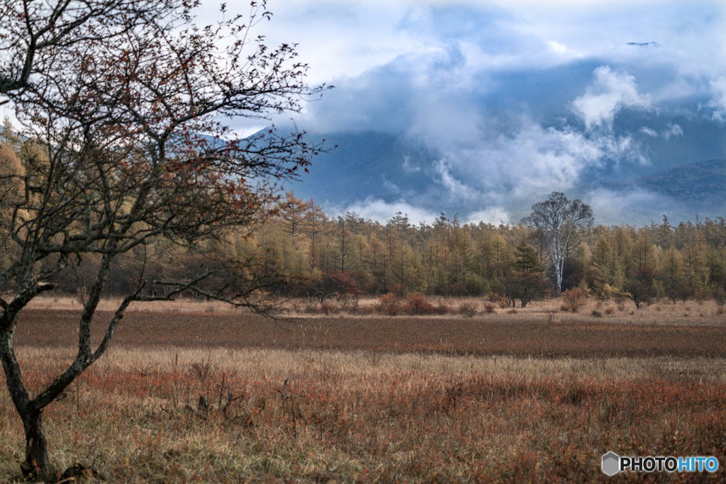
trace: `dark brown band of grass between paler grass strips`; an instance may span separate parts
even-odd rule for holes
[[[75,345],[78,310],[23,311],[18,345]],[[523,319],[528,314],[532,318]],[[121,321],[114,346],[226,347],[366,350],[395,353],[509,355],[521,357],[608,358],[644,356],[722,357],[726,325],[683,324],[661,317],[632,323],[582,315],[550,323],[544,313],[526,308],[486,316],[308,316],[270,320],[250,313],[155,313],[130,311]],[[666,316],[666,311],[658,312]],[[569,315],[568,315],[569,316]],[[110,313],[99,313],[94,339]],[[705,320],[705,318],[704,318]],[[95,325],[95,323],[94,323]]]

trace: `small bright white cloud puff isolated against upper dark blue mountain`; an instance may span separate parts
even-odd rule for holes
[[[650,109],[650,97],[638,92],[632,75],[613,72],[609,65],[597,67],[592,74],[592,85],[572,102],[574,112],[587,129],[612,128],[615,116],[622,109]]]

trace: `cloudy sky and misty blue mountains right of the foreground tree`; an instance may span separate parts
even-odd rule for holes
[[[270,43],[298,43],[309,82],[335,86],[295,123],[338,148],[285,186],[329,213],[515,223],[553,190],[598,223],[725,213],[720,1],[269,7]]]

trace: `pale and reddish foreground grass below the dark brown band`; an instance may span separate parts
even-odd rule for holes
[[[474,358],[199,353],[139,350],[92,367],[47,412],[54,466],[78,459],[113,482],[608,482],[608,449],[726,455],[718,378],[613,375],[605,361],[515,369],[500,357],[487,369]],[[57,358],[26,364],[36,386],[60,369]],[[17,474],[21,428],[3,390],[4,482]]]

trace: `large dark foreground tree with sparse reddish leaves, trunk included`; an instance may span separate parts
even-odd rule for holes
[[[227,20],[202,27],[194,23],[198,7],[182,0],[0,1],[0,103],[9,102],[25,136],[44,147],[23,160],[22,173],[5,175],[20,181],[23,197],[9,218],[19,255],[0,271],[0,285],[15,287],[12,300],[0,300],[0,358],[25,429],[26,475],[49,477],[43,410],[102,356],[131,302],[196,291],[260,309],[253,261],[217,261],[183,281],[147,281],[142,271],[102,340],[91,344],[91,320],[118,255],[160,237],[193,249],[245,229],[261,205],[274,202],[274,184],[294,177],[319,148],[297,131],[274,128],[236,139],[224,120],[296,112],[322,87],[306,85],[293,44],[269,49],[250,36],[271,16],[264,1],[244,17],[230,17],[223,5]],[[20,311],[72,261],[91,256],[100,262],[79,319],[76,358],[30,395],[13,348]],[[213,273],[218,283],[203,285]]]

